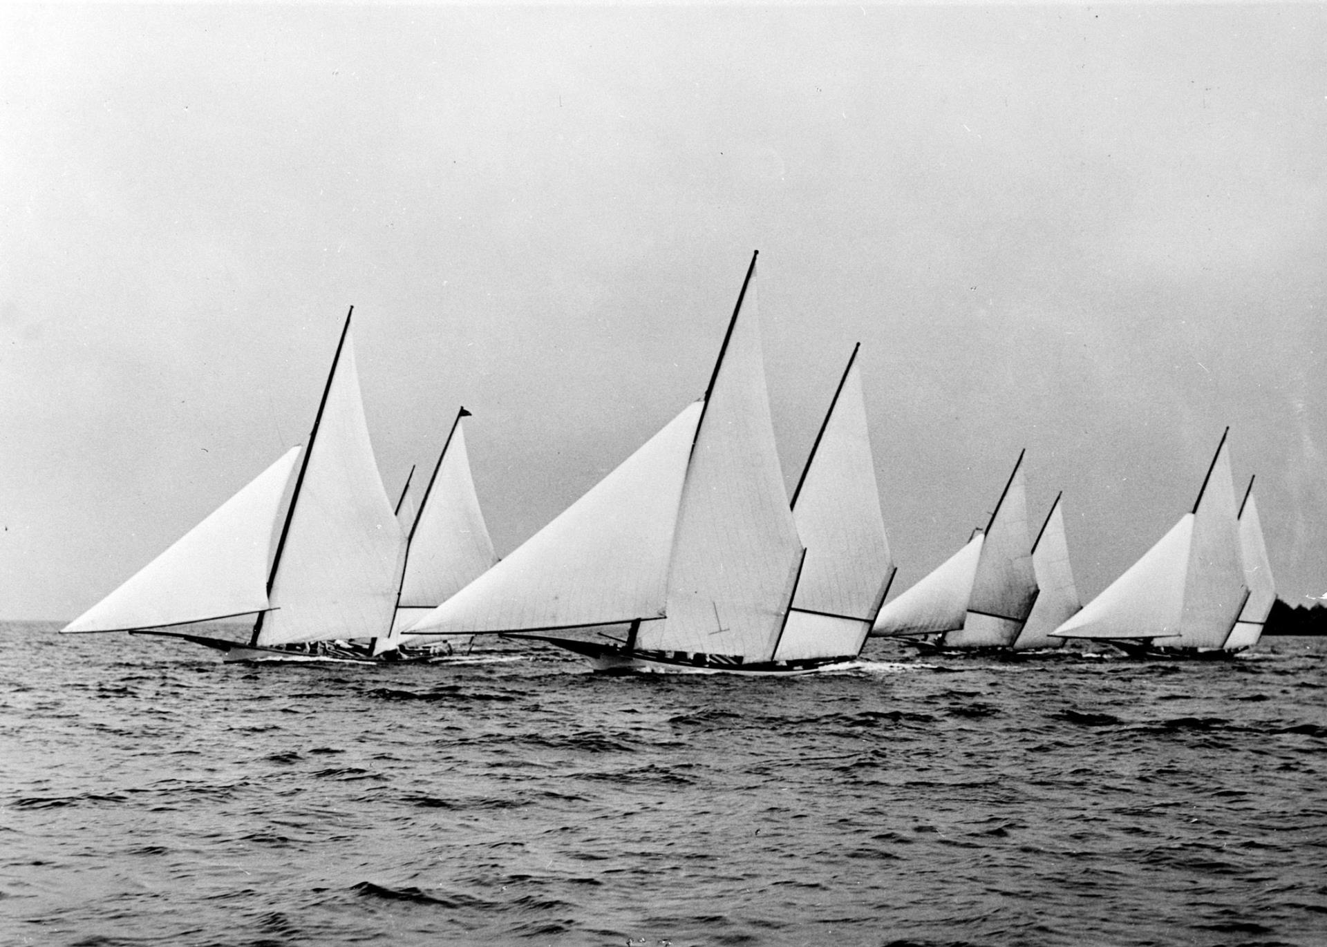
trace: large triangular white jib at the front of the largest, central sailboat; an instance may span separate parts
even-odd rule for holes
[[[664,614],[669,550],[701,402],[502,562],[427,613],[417,633],[536,631]]]

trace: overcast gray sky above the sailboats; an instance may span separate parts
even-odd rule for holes
[[[906,588],[1027,447],[1084,597],[1231,426],[1327,594],[1327,8],[0,8],[0,617],[301,442],[356,305],[389,492],[499,553],[701,395],[752,248],[790,484],[852,344]]]

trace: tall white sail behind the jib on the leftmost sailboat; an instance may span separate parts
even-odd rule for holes
[[[292,503],[257,645],[380,637],[405,537],[373,459],[349,329]]]

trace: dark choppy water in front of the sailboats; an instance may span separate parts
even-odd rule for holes
[[[1323,944],[1327,642],[783,680],[0,626],[0,943]]]

